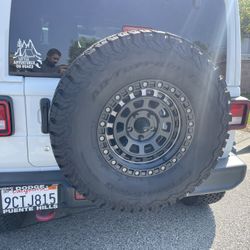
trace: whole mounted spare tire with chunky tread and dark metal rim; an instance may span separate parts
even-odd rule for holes
[[[209,176],[229,121],[226,84],[190,42],[158,31],[108,37],[70,66],[50,138],[69,182],[99,206],[173,203]]]

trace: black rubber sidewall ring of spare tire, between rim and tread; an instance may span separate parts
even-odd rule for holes
[[[195,182],[211,162],[220,134],[216,124],[221,122],[222,111],[217,106],[217,85],[211,84],[211,79],[217,81],[214,70],[208,65],[199,69],[178,55],[172,54],[171,61],[166,60],[166,55],[146,51],[143,55],[128,54],[119,61],[112,59],[104,70],[92,74],[87,86],[74,96],[75,109],[67,117],[72,131],[65,138],[70,149],[67,157],[78,172],[79,182],[106,199],[110,196],[117,201],[125,196],[143,202],[164,199]],[[104,160],[98,148],[97,126],[108,100],[121,88],[144,79],[164,80],[183,91],[194,109],[196,125],[192,145],[172,169],[152,177],[135,178],[115,171]]]

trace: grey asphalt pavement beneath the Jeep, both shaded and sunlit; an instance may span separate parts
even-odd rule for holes
[[[250,167],[250,133],[237,133],[236,141],[239,156]],[[63,210],[54,221],[1,234],[0,249],[250,249],[249,173],[210,206],[179,203],[133,214]]]

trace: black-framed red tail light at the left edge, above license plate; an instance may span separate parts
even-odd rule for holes
[[[11,98],[0,96],[0,136],[10,136],[14,132],[12,110]]]

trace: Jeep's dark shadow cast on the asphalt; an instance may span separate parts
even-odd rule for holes
[[[74,212],[75,214],[66,218],[4,233],[0,235],[1,247],[210,249],[215,237],[216,226],[210,207],[186,207],[177,204],[160,212],[131,214],[100,209],[81,209]]]

